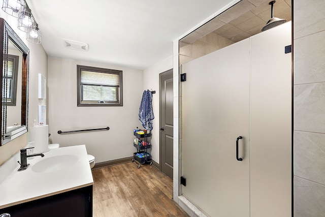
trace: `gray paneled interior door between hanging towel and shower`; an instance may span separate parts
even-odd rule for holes
[[[160,170],[173,178],[173,70],[159,74]]]

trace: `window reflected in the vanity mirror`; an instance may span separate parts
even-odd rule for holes
[[[3,77],[3,102],[7,106],[16,106],[17,77],[18,77],[19,56],[8,54],[8,60],[4,60],[4,67],[7,67],[7,76]]]

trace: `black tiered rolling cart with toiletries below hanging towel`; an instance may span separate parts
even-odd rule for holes
[[[150,142],[148,142],[148,138],[151,136],[151,133],[139,133],[140,132],[134,132],[134,135],[137,137],[137,140],[133,142],[133,146],[137,148],[137,152],[133,153],[132,159],[132,162],[137,161],[138,168],[140,168],[140,164],[152,165],[151,156],[148,153],[148,149],[151,148],[151,144]]]

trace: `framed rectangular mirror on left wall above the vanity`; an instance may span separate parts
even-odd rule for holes
[[[1,144],[27,132],[28,129],[28,59],[29,49],[0,18],[3,47],[0,53],[2,73]]]

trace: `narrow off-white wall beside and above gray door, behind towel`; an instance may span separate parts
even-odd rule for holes
[[[172,43],[171,43],[172,46]],[[153,130],[151,136],[151,155],[152,160],[159,163],[159,74],[170,70],[173,68],[173,58],[172,56],[161,60],[159,63],[147,68],[144,70],[143,73],[143,82],[144,82],[144,89],[152,89],[156,91],[156,94],[152,97],[152,108],[153,108]]]

